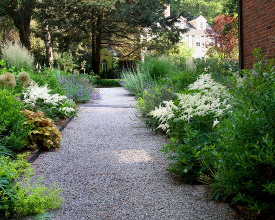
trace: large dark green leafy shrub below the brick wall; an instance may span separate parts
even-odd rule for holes
[[[232,93],[234,109],[217,126],[212,195],[275,213],[275,67],[260,50],[252,70]],[[263,217],[264,219],[264,217]]]

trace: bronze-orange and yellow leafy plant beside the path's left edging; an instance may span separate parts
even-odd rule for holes
[[[30,148],[42,146],[45,149],[58,148],[61,139],[61,133],[51,119],[44,117],[42,111],[24,110],[23,113],[32,125],[28,137],[25,138],[25,144]]]

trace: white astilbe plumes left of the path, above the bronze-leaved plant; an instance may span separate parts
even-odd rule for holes
[[[58,105],[66,96],[60,94],[49,94],[50,89],[46,85],[39,87],[37,84],[31,85],[23,92],[24,102],[35,106],[38,99],[41,99],[43,103]]]

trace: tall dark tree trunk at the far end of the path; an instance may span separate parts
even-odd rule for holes
[[[98,11],[95,26],[92,30],[91,40],[91,68],[94,74],[99,75],[100,67],[100,53],[101,53],[101,42],[102,42],[102,18],[103,14]]]

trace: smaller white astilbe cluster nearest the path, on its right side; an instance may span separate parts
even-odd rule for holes
[[[178,107],[174,105],[173,100],[163,101],[162,103],[164,106],[160,103],[159,107],[155,107],[155,109],[148,115],[158,118],[159,126],[157,128],[161,128],[162,130],[168,132],[168,121],[174,117],[173,110],[177,110]]]

